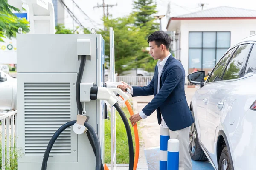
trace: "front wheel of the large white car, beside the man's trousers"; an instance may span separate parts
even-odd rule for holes
[[[192,116],[194,118],[194,113],[192,112]],[[190,148],[190,157],[194,161],[207,161],[207,157],[204,154],[204,151],[202,150],[198,138],[198,134],[196,131],[196,126],[195,123],[193,123],[190,127],[190,132],[189,132],[189,148]]]

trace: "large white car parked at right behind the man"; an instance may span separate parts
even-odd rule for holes
[[[231,49],[233,51],[229,53]],[[239,50],[242,52],[239,53]],[[199,78],[198,81],[190,78],[197,73],[188,76],[190,82],[193,80],[194,84],[200,84],[190,103],[196,126],[196,130],[191,129],[191,157],[193,159],[197,154],[194,160],[205,160],[204,156],[199,156],[202,149],[216,170],[253,170],[256,160],[256,109],[252,109],[256,108],[256,35],[245,38],[226,54],[215,65],[205,82],[200,83]],[[228,69],[221,71],[221,80],[212,81],[213,77],[218,77],[216,70],[221,70],[218,66],[228,54],[232,55],[229,57],[231,62],[223,64]],[[239,60],[239,64],[235,65],[232,59],[239,57],[243,62]],[[235,66],[233,70],[238,70],[241,65],[239,74],[230,74],[232,64]],[[193,142],[199,142],[201,148],[197,144],[193,146]],[[225,146],[227,152],[223,150]],[[223,159],[225,154],[229,159],[226,160],[227,164]]]

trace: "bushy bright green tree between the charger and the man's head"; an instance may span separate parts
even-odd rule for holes
[[[143,54],[148,43],[145,40],[147,31],[135,27],[136,17],[131,14],[127,17],[109,19],[103,18],[105,30],[97,31],[105,40],[105,55],[109,54],[109,27],[115,32],[115,70],[118,74],[134,68],[135,59]],[[124,67],[126,65],[126,67]]]

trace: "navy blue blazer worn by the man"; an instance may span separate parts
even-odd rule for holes
[[[183,65],[172,57],[166,61],[160,76],[160,90],[157,94],[158,68],[155,67],[154,76],[149,85],[132,86],[133,97],[149,96],[154,98],[143,108],[143,113],[150,116],[157,110],[158,124],[161,124],[161,113],[170,130],[181,130],[194,122],[185,96],[185,70]]]

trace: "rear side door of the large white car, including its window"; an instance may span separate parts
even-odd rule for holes
[[[232,57],[228,59],[221,71],[220,79],[216,82],[209,83],[209,99],[207,106],[207,130],[208,144],[207,151],[212,158],[215,158],[215,143],[218,127],[225,119],[228,109],[236,103],[236,97],[232,91],[236,88],[235,80],[244,76],[245,63],[250,52],[252,44],[238,45]],[[223,119],[222,119],[223,118]],[[227,119],[228,120],[228,119]],[[232,123],[232,122],[230,122]],[[213,160],[217,161],[217,159]]]

